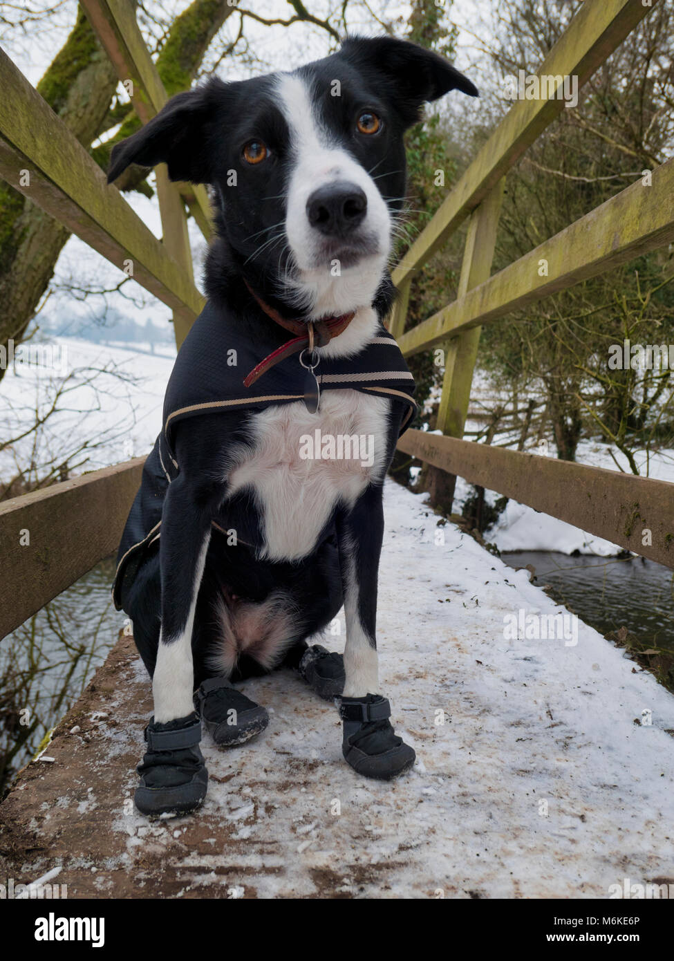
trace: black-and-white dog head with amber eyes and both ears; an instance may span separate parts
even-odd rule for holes
[[[240,275],[308,318],[369,306],[386,275],[406,188],[403,135],[425,101],[476,95],[437,54],[392,37],[351,37],[291,73],[173,97],[112,150],[109,182],[131,163],[212,185],[219,208],[207,263],[212,295]]]

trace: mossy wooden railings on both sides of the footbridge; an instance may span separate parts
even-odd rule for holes
[[[586,0],[538,74],[560,83],[575,75],[582,86],[657,2]],[[132,4],[82,0],[82,5],[140,120],[147,122],[166,93]],[[206,191],[172,185],[163,165],[157,168],[159,241],[1,50],[0,90],[0,176],[168,305],[180,344],[202,304],[193,281],[185,205],[210,236]],[[652,172],[651,186],[628,187],[490,277],[504,178],[562,109],[557,98],[517,101],[393,272],[400,298],[390,329],[403,353],[442,345],[446,356],[437,422],[443,435],[408,431],[399,446],[431,465],[437,502],[451,502],[454,478],[461,476],[674,566],[673,484],[462,440],[481,326],[674,240],[674,160],[669,160]],[[414,273],[466,219],[457,299],[404,333]],[[548,263],[546,277],[538,276],[541,259]],[[119,464],[0,504],[0,637],[112,553],[141,464],[141,459]],[[648,545],[642,542],[649,539],[642,537],[646,528]],[[22,536],[26,530],[29,543]]]

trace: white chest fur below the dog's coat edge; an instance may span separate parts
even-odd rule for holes
[[[337,502],[353,504],[386,470],[390,402],[358,390],[326,390],[310,413],[302,401],[251,414],[252,451],[235,457],[231,493],[252,489],[262,513],[264,556],[310,554]]]

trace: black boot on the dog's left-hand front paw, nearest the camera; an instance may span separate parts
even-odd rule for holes
[[[209,773],[199,750],[201,721],[196,713],[145,728],[147,752],[137,767],[136,806],[141,814],[187,814],[206,797]]]

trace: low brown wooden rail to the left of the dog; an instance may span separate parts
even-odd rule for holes
[[[144,459],[0,502],[0,639],[117,550]]]

